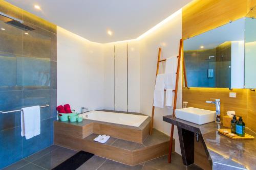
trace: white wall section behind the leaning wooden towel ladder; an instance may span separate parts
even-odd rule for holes
[[[166,22],[153,33],[145,36],[140,43],[140,110],[141,113],[151,116],[153,94],[156,76],[158,48],[162,48],[161,59],[178,55],[181,39],[181,11],[172,20]],[[163,72],[164,64],[160,64],[160,72]],[[177,108],[181,108],[181,74],[179,79]],[[163,122],[162,116],[172,114],[168,108],[155,108],[154,128],[170,135],[171,125]],[[175,127],[176,152],[180,154],[179,138]]]

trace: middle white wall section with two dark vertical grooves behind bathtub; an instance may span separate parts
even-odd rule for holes
[[[140,112],[139,41],[104,44],[104,76],[105,109]]]

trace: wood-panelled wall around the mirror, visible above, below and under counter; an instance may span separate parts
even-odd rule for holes
[[[182,38],[187,39],[215,29],[246,16],[256,0],[194,0],[182,9]],[[229,92],[237,92],[237,98],[229,98]],[[249,89],[190,88],[182,89],[182,101],[188,107],[215,110],[215,105],[206,104],[210,98],[221,99],[221,117],[234,110],[243,116],[245,126],[256,132],[256,94]],[[203,169],[211,169],[202,142],[195,142],[195,163]]]

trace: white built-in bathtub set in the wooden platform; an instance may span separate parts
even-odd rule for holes
[[[114,113],[105,111],[90,111],[80,114],[84,119],[98,120],[114,124],[128,125],[139,127],[148,116]]]

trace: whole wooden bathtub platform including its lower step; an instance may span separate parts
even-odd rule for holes
[[[168,153],[169,136],[155,129],[148,135],[150,120],[148,117],[139,127],[88,119],[81,123],[57,120],[54,122],[54,143],[133,166]],[[104,144],[93,141],[98,134],[111,138]]]

